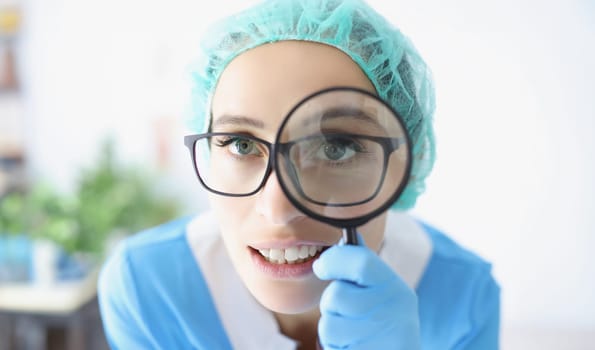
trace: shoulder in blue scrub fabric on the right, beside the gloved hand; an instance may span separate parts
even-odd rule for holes
[[[432,242],[432,255],[417,288],[424,333],[439,339],[440,348],[450,344],[446,348],[464,349],[480,334],[496,337],[492,345],[497,346],[500,287],[492,265],[444,232],[420,224]]]

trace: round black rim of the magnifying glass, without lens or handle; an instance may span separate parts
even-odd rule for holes
[[[393,195],[385,202],[383,203],[380,207],[378,207],[376,210],[366,214],[366,215],[362,215],[362,216],[358,216],[358,217],[354,217],[354,218],[349,218],[349,219],[335,219],[335,218],[330,218],[327,216],[323,216],[320,215],[310,209],[308,209],[307,207],[303,206],[298,200],[296,200],[291,194],[289,189],[287,188],[287,185],[285,184],[284,180],[281,178],[280,174],[280,166],[281,166],[281,162],[277,161],[277,145],[280,143],[280,139],[281,139],[281,135],[283,133],[283,130],[285,129],[285,126],[287,125],[287,122],[289,121],[289,118],[291,118],[291,116],[293,115],[293,113],[300,108],[304,103],[306,103],[308,100],[310,100],[311,98],[314,98],[318,95],[322,95],[322,94],[326,94],[329,92],[334,92],[334,91],[351,91],[351,92],[357,92],[357,93],[362,93],[364,95],[370,96],[372,98],[374,98],[375,100],[377,100],[378,102],[380,102],[382,105],[384,105],[386,108],[388,108],[388,110],[390,110],[396,117],[397,122],[400,124],[401,128],[405,131],[404,136],[406,139],[406,143],[407,143],[407,158],[408,158],[408,162],[407,162],[407,167],[405,168],[405,175],[404,175],[404,179],[407,179],[406,181],[403,181],[399,187],[397,188],[397,190],[393,193]],[[319,91],[316,91],[310,95],[307,95],[306,97],[302,98],[285,116],[285,118],[283,118],[283,121],[281,122],[281,125],[279,126],[279,129],[277,130],[277,135],[275,136],[275,142],[273,142],[272,145],[273,149],[272,149],[272,156],[275,157],[275,160],[272,162],[273,163],[273,168],[275,170],[275,173],[277,174],[277,179],[279,180],[279,185],[281,186],[281,189],[283,190],[283,193],[285,193],[285,197],[287,197],[287,199],[291,202],[291,204],[293,204],[298,210],[300,210],[301,212],[303,212],[304,214],[318,220],[324,223],[328,223],[332,226],[335,227],[339,227],[339,228],[347,228],[347,227],[357,227],[357,226],[361,226],[363,224],[365,224],[366,222],[370,221],[371,219],[373,219],[374,217],[380,215],[382,212],[384,212],[385,210],[387,210],[388,208],[390,208],[390,206],[401,196],[401,194],[403,193],[403,191],[405,190],[405,187],[407,187],[407,184],[409,183],[409,177],[411,175],[411,167],[412,167],[412,163],[413,163],[413,158],[412,158],[412,151],[411,151],[411,138],[409,137],[409,134],[407,132],[407,128],[405,127],[405,124],[403,122],[403,119],[401,117],[401,115],[399,113],[397,113],[397,111],[395,111],[394,108],[392,108],[391,105],[389,105],[388,103],[386,103],[384,100],[382,100],[380,97],[378,97],[377,95],[371,93],[368,90],[364,90],[361,88],[356,88],[353,86],[333,86],[333,87],[329,87],[329,88],[325,88]]]

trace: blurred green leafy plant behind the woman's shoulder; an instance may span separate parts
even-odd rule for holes
[[[133,233],[179,215],[172,199],[155,194],[153,181],[132,167],[118,166],[111,139],[93,167],[81,172],[71,196],[35,185],[0,203],[0,234],[25,233],[56,242],[69,252],[102,254],[114,232]]]

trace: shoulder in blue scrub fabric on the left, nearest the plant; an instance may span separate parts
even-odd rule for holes
[[[209,348],[222,342],[226,348],[210,291],[187,241],[191,221],[181,218],[128,237],[104,264],[98,296],[113,347]]]

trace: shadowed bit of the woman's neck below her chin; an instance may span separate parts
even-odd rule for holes
[[[320,311],[314,308],[301,314],[275,313],[281,333],[299,342],[299,350],[316,349]]]

